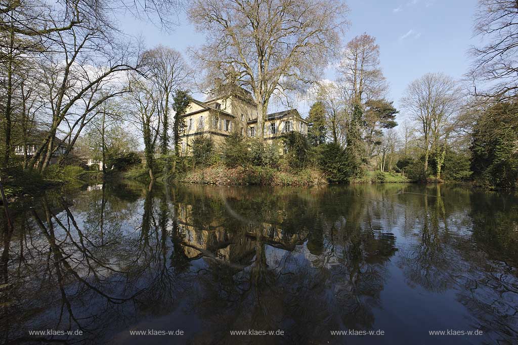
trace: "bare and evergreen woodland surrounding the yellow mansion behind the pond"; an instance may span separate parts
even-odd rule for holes
[[[470,70],[462,80],[416,76],[396,109],[376,38],[347,39],[339,0],[2,1],[2,177],[55,176],[93,157],[105,173],[131,169],[150,179],[249,165],[316,169],[329,182],[374,172],[379,182],[398,173],[516,188],[518,3],[477,6],[473,34],[483,43],[469,50]],[[130,13],[167,32],[179,11],[206,36],[188,56],[148,48],[115,20]],[[330,65],[336,79],[322,80]],[[221,76],[251,92],[260,131],[272,104],[311,99],[308,138],[288,133],[272,147],[233,134],[221,150],[200,139],[180,157],[178,115]]]

